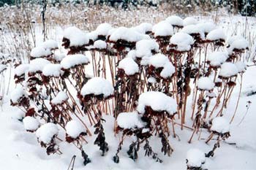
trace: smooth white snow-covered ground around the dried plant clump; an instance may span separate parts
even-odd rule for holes
[[[204,20],[209,18],[204,17]],[[244,18],[234,17],[219,18],[220,26],[224,26],[227,36],[237,32],[238,34],[251,33],[252,37],[256,37],[255,31],[255,18],[249,20],[249,31],[243,32]],[[233,23],[232,23],[233,22]],[[236,27],[236,28],[234,28]],[[58,28],[60,29],[60,28]],[[56,38],[57,42],[60,42],[63,31],[59,30],[59,37]],[[41,39],[39,37],[38,39]],[[253,40],[255,43],[255,40]],[[250,42],[253,43],[253,42]],[[252,62],[247,63],[252,65]],[[244,73],[243,86],[241,90],[241,99],[238,105],[238,112],[230,125],[230,138],[225,142],[220,143],[220,148],[214,152],[214,157],[206,158],[206,163],[203,168],[206,169],[256,169],[256,95],[246,96],[251,92],[256,92],[256,66],[249,66]],[[15,88],[13,82],[11,82],[10,91]],[[234,89],[233,98],[230,101],[227,109],[225,110],[225,117],[229,118],[233,116],[233,112],[236,107],[236,101],[238,98],[239,87]],[[246,112],[246,105],[248,101],[252,104],[249,105],[248,112]],[[40,147],[37,142],[37,136],[31,132],[26,131],[22,122],[18,121],[17,116],[18,109],[10,107],[10,96],[5,96],[2,101],[2,107],[0,112],[0,169],[3,170],[63,170],[68,169],[69,163],[73,155],[75,158],[75,170],[79,169],[187,169],[186,158],[187,151],[192,148],[198,148],[203,152],[208,152],[212,149],[214,140],[205,143],[208,134],[202,132],[200,139],[197,140],[197,136],[189,144],[188,140],[192,134],[192,131],[184,128],[181,131],[180,126],[176,125],[176,138],[169,136],[170,144],[174,148],[174,152],[170,157],[162,155],[159,152],[159,158],[163,163],[155,162],[151,157],[144,157],[144,152],[141,149],[138,154],[138,160],[132,161],[127,156],[127,150],[129,144],[132,142],[133,137],[125,140],[124,146],[119,153],[120,162],[114,163],[113,156],[118,147],[118,140],[121,136],[114,136],[113,125],[114,118],[112,115],[104,115],[103,118],[106,123],[103,123],[105,128],[106,141],[109,145],[109,151],[105,156],[101,156],[99,148],[94,145],[95,135],[86,138],[88,144],[83,144],[83,150],[89,155],[91,163],[86,166],[83,165],[83,158],[81,157],[80,150],[75,147],[74,144],[67,142],[60,142],[59,147],[61,149],[61,155],[47,155],[45,148]],[[230,113],[230,114],[229,114]],[[246,114],[246,115],[245,115]],[[243,120],[244,118],[244,120]],[[241,122],[241,120],[243,120]],[[192,124],[191,120],[187,120],[189,125]],[[89,127],[91,131],[94,131],[93,127]],[[64,131],[59,132],[59,138],[64,138]],[[160,150],[161,142],[156,136],[151,136],[150,142],[153,150]]]

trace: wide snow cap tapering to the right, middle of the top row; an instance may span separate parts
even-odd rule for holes
[[[138,42],[141,39],[149,39],[149,36],[140,34],[132,28],[119,27],[110,35],[110,41],[116,42],[118,39],[122,39],[127,42]]]

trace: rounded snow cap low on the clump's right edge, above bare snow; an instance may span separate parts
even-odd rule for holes
[[[230,131],[230,123],[224,117],[215,117],[212,120],[211,131],[225,134]]]

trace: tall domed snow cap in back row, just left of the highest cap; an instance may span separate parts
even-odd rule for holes
[[[161,21],[153,26],[152,32],[154,37],[157,36],[172,36],[173,35],[173,26],[170,25],[167,21]]]

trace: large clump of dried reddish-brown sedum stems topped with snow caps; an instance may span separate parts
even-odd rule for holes
[[[83,147],[95,136],[104,156],[104,115],[115,118],[113,133],[121,136],[112,153],[116,163],[130,136],[135,140],[129,144],[129,158],[136,161],[144,150],[162,163],[160,152],[170,156],[175,150],[170,136],[176,137],[176,128],[187,128],[189,142],[202,131],[208,133],[206,143],[216,142],[208,153],[188,151],[187,169],[202,169],[206,157],[214,156],[230,136],[233,118],[225,115],[235,117],[236,111],[225,109],[246,69],[248,42],[243,37],[226,39],[214,23],[170,16],[131,28],[102,23],[88,32],[69,27],[62,46],[67,53],[50,39],[34,47],[31,61],[15,67],[17,88],[11,96],[12,106],[22,111],[18,119],[48,154],[61,154],[59,142],[66,141],[81,150],[86,165],[90,155]],[[65,131],[65,139],[59,131]],[[158,137],[161,150],[152,149],[151,136]]]

